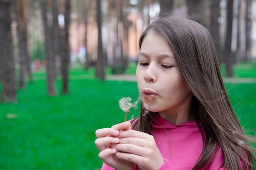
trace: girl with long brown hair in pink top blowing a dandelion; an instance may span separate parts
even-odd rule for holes
[[[139,49],[141,114],[96,131],[102,170],[253,170],[255,151],[228,99],[207,30],[162,17],[141,35]]]

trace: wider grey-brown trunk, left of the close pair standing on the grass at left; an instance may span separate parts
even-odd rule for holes
[[[57,94],[56,90],[56,76],[55,76],[55,56],[53,47],[53,23],[47,19],[47,8],[49,7],[47,0],[41,0],[42,19],[44,26],[44,40],[45,40],[45,54],[46,54],[46,70],[47,70],[47,94],[54,96]]]

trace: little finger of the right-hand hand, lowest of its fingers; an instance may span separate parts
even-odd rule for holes
[[[146,159],[143,158],[142,156],[136,155],[136,154],[132,154],[132,153],[116,153],[116,156],[119,159],[123,159],[129,162],[133,162],[137,165],[141,165],[142,163],[144,164],[144,162],[146,162]]]

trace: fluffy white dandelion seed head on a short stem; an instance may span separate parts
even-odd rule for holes
[[[138,97],[137,101],[134,103],[131,103],[132,98],[127,97],[127,98],[122,98],[119,100],[119,107],[122,111],[125,112],[125,118],[124,121],[127,119],[127,114],[130,113],[130,109],[134,107],[135,109],[137,108],[137,104],[140,101],[140,96]]]

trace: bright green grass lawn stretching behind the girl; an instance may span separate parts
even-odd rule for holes
[[[68,95],[61,95],[58,79],[59,96],[47,96],[41,71],[25,90],[18,91],[17,104],[0,103],[0,170],[100,169],[95,131],[123,121],[118,100],[137,99],[137,83],[102,83],[93,78],[93,69],[72,68],[70,74]],[[256,136],[256,84],[226,86],[245,132]],[[19,117],[8,119],[8,113]],[[139,109],[132,114],[138,116]]]

